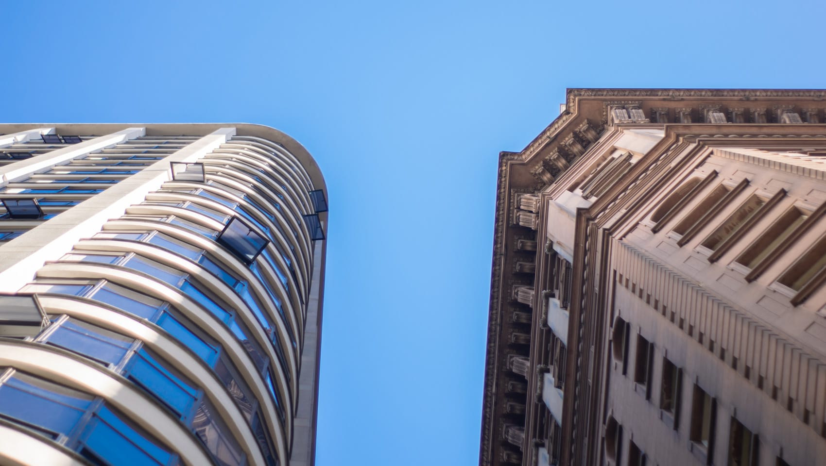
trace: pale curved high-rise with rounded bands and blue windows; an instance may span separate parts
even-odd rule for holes
[[[314,464],[306,149],[260,125],[0,134],[0,464]]]

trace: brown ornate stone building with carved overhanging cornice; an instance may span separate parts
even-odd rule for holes
[[[482,466],[826,462],[824,117],[571,89],[501,153]]]

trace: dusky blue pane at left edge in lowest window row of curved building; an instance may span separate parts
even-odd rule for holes
[[[92,404],[92,397],[19,371],[0,385],[0,415],[56,438],[69,435]]]

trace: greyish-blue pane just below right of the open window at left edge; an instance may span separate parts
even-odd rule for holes
[[[69,318],[51,331],[45,341],[103,364],[117,365],[135,340]]]

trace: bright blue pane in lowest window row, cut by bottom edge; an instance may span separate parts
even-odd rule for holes
[[[87,426],[85,448],[110,464],[173,464],[177,457],[102,407]]]

